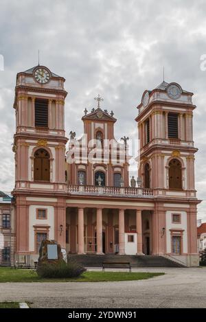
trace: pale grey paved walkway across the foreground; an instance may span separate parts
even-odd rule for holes
[[[30,301],[34,308],[206,308],[206,268],[133,268],[138,271],[165,275],[104,283],[2,283],[0,300]]]

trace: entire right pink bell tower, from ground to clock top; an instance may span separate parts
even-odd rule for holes
[[[192,95],[174,82],[144,91],[139,115],[139,178],[154,198],[152,254],[198,266]]]

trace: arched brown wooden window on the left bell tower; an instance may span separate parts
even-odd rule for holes
[[[50,181],[49,153],[38,149],[34,154],[34,181]]]

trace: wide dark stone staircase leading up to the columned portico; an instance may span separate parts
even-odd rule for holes
[[[185,267],[158,255],[69,254],[68,258],[86,267],[102,267],[102,262],[130,262],[132,267]]]

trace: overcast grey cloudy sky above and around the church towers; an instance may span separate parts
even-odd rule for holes
[[[0,0],[0,189],[14,186],[16,73],[41,64],[66,78],[66,130],[82,134],[84,108],[104,97],[115,136],[137,137],[136,106],[163,79],[194,93],[198,218],[206,221],[206,1]]]

